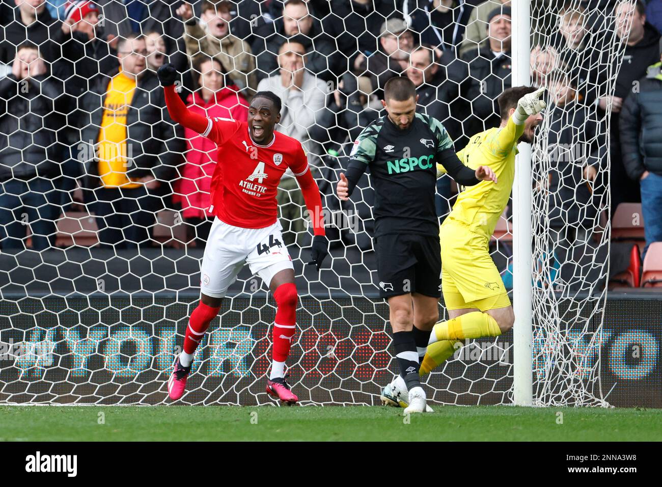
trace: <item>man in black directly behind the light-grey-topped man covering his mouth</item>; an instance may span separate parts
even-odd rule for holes
[[[297,36],[299,42],[303,42],[308,53],[306,70],[324,80],[335,79],[334,76],[338,74],[334,56],[336,47],[332,39],[322,32],[320,23],[308,13],[305,1],[287,0],[283,18],[277,19],[269,27],[271,32],[263,29],[262,38],[258,38],[253,44],[254,52],[258,56],[260,80],[277,74],[279,49],[294,36]]]

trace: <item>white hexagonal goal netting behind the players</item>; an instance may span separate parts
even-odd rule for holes
[[[311,0],[290,2],[285,15],[275,0],[221,2],[216,9],[199,2],[192,10],[179,1],[102,1],[81,3],[73,14],[65,5],[46,5],[60,7],[60,19],[73,15],[64,25],[42,13],[39,0],[17,9],[3,5],[0,402],[166,402],[165,382],[199,296],[216,163],[211,142],[167,116],[154,76],[167,60],[183,74],[181,95],[200,113],[246,117],[246,100],[260,89],[283,98],[278,129],[307,147],[332,224],[332,258],[317,274],[304,265],[310,231],[303,197],[293,178],[283,180],[281,222],[302,296],[291,382],[304,403],[377,404],[396,364],[387,305],[375,285],[373,191],[363,176],[352,202],[341,205],[334,195],[338,172],[355,136],[380,115],[389,77],[420,83],[420,110],[444,123],[457,150],[468,136],[498,124],[495,99],[510,86],[504,15],[496,15],[500,25],[486,39],[487,18],[500,3],[438,3]],[[573,108],[547,110],[534,146],[534,391],[540,404],[597,404],[609,119],[598,117],[592,101],[613,92],[623,48],[613,3],[587,7],[591,42],[577,50],[563,42],[561,7],[532,5],[534,81],[546,83],[551,96],[559,80],[581,95]],[[35,12],[36,23],[22,28]],[[394,20],[381,33],[387,19],[406,19],[409,28],[400,30]],[[235,36],[226,35],[228,23]],[[146,42],[125,40],[136,26],[148,34]],[[287,57],[281,66],[294,66],[288,69],[295,75],[279,71],[286,40],[306,50],[305,72]],[[417,49],[418,41],[438,51]],[[140,72],[146,61],[134,90],[117,78],[118,56],[125,71]],[[111,78],[132,96],[105,96]],[[293,78],[302,97],[291,96],[299,91],[289,89]],[[553,122],[559,117],[562,134]],[[577,124],[565,125],[567,117]],[[99,144],[102,135],[108,143]],[[582,172],[589,158],[595,174],[585,199],[587,180],[575,168]],[[559,160],[567,162],[567,174]],[[136,180],[135,188],[114,188]],[[444,176],[440,217],[454,191]],[[491,243],[506,287],[511,213]],[[228,296],[197,351],[183,404],[269,402],[263,379],[273,299],[246,269]],[[437,402],[510,403],[512,333],[467,345],[426,383]]]

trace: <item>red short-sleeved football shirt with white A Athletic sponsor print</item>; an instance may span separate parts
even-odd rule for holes
[[[256,144],[247,122],[214,117],[202,135],[218,144],[218,163],[211,180],[209,212],[246,229],[261,229],[277,219],[276,193],[281,176],[308,171],[308,159],[295,138],[273,133],[271,143]]]

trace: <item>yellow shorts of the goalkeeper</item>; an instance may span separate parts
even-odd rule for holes
[[[444,222],[439,237],[442,248],[442,292],[448,309],[481,311],[510,306],[503,280],[489,253],[488,240],[461,224]]]

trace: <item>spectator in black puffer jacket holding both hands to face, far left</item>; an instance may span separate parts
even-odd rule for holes
[[[59,132],[63,127],[62,86],[48,76],[34,44],[18,46],[12,72],[0,80],[0,247],[32,248],[55,243],[62,207]]]

